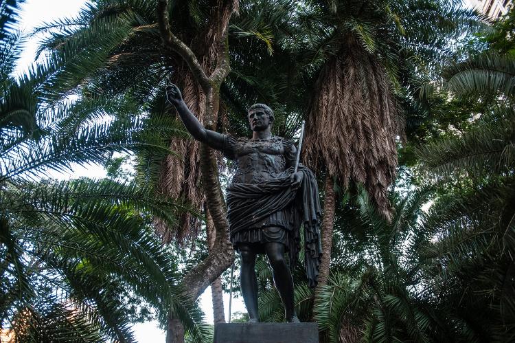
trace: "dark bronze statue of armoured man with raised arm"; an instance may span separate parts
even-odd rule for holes
[[[294,173],[297,149],[292,142],[271,135],[273,111],[254,104],[248,111],[253,135],[236,139],[207,130],[183,101],[175,85],[166,87],[166,98],[181,116],[187,131],[211,148],[236,162],[236,174],[227,187],[227,220],[231,243],[241,256],[241,290],[250,322],[258,322],[257,254],[266,254],[273,269],[288,322],[299,322],[295,314],[293,278],[290,269],[297,261],[300,227],[304,226],[306,273],[311,287],[317,284],[321,243],[320,204],[317,181],[300,165]],[[288,252],[290,269],[284,258]]]

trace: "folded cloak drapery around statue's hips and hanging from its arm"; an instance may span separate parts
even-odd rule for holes
[[[275,179],[259,184],[230,184],[227,187],[227,220],[231,238],[237,232],[249,230],[274,212],[293,207],[290,230],[294,242],[290,244],[290,268],[295,267],[300,249],[300,228],[304,226],[304,261],[310,287],[316,287],[322,255],[320,239],[321,208],[317,179],[308,168],[300,165],[303,173],[297,190],[291,187],[293,167]]]

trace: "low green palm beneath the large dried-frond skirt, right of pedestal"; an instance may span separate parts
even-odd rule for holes
[[[351,257],[336,262],[318,291],[313,311],[323,342],[424,342],[438,330],[429,318],[429,297],[419,287],[426,265],[422,252],[431,243],[420,225],[421,208],[432,192],[425,187],[391,198],[391,221],[363,188],[339,211],[335,250],[343,248]]]

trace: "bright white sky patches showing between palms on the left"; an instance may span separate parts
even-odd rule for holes
[[[35,27],[43,23],[53,22],[60,18],[70,18],[76,16],[80,8],[87,3],[87,0],[27,0],[21,6],[20,27],[24,34],[30,34]],[[27,70],[36,57],[38,40],[41,36],[27,37],[23,44],[23,54],[19,59],[15,74],[21,74]],[[71,173],[49,173],[50,177],[58,179],[69,179],[75,177],[93,177],[100,178],[106,176],[106,171],[102,166],[72,166]],[[236,280],[238,282],[238,280]],[[203,309],[206,322],[213,323],[213,311],[211,303],[211,288],[207,287],[206,291],[200,298],[201,308]],[[224,294],[225,316],[229,313],[229,294]],[[232,313],[236,311],[246,312],[241,298],[233,298]],[[165,331],[159,329],[157,322],[147,322],[144,324],[135,324],[133,327],[135,338],[138,342],[165,342]]]

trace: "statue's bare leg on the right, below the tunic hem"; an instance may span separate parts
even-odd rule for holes
[[[268,261],[273,269],[273,281],[284,305],[284,316],[288,322],[299,322],[295,314],[293,298],[293,278],[284,259],[285,247],[282,243],[266,243],[264,245]]]

